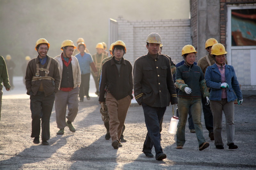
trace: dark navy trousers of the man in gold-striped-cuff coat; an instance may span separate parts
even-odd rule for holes
[[[154,145],[157,158],[164,153],[160,144],[161,134],[159,132],[159,122],[164,116],[166,107],[151,107],[143,102],[141,103],[141,105],[144,111],[145,123],[148,130],[146,139],[143,144],[142,152],[151,153],[152,147]]]

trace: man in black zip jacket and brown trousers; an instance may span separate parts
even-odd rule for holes
[[[102,65],[99,102],[106,102],[109,113],[109,133],[112,146],[118,149],[120,137],[132,96],[132,64],[123,58],[126,47],[123,41],[116,41],[114,56]]]

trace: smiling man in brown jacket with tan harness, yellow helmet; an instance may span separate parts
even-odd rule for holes
[[[40,38],[36,41],[38,56],[28,62],[26,70],[26,88],[30,95],[30,110],[32,114],[32,133],[34,144],[39,144],[40,124],[42,119],[42,145],[49,145],[50,117],[60,85],[58,63],[47,55],[50,44]]]

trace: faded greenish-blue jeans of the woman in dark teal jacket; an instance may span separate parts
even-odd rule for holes
[[[196,137],[198,141],[198,146],[205,142],[203,135],[203,128],[201,124],[201,98],[189,99],[189,98],[178,98],[178,110],[179,110],[179,124],[177,129],[177,146],[183,146],[186,142],[185,140],[185,126],[188,117],[188,109],[191,109],[191,115],[194,122]]]

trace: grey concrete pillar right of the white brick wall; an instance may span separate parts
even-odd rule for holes
[[[198,51],[199,60],[208,54],[207,39],[215,38],[220,42],[220,0],[191,0],[190,4],[192,45]]]

